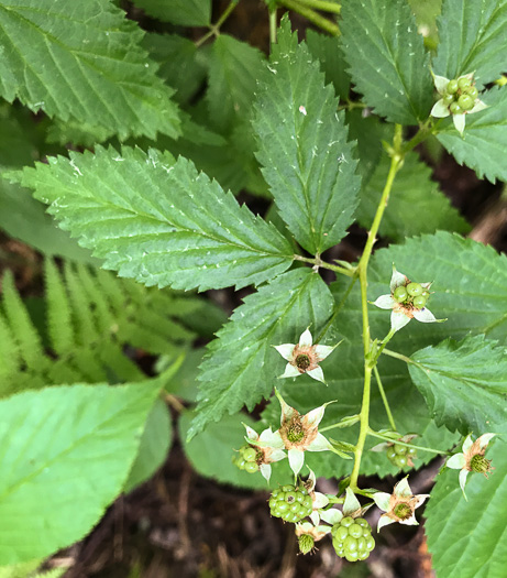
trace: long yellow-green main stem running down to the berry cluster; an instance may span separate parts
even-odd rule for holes
[[[390,159],[389,173],[387,175],[386,184],[384,190],[382,192],[381,200],[378,203],[377,211],[373,219],[372,228],[368,232],[368,238],[366,246],[363,251],[363,255],[357,265],[360,273],[360,284],[361,284],[361,310],[363,314],[363,350],[364,350],[364,386],[363,386],[363,402],[361,405],[361,426],[360,435],[355,448],[355,461],[354,469],[351,475],[350,487],[353,491],[357,490],[357,477],[360,473],[361,467],[361,457],[363,455],[364,444],[366,441],[366,436],[370,428],[370,394],[371,394],[371,383],[372,383],[372,360],[371,360],[371,339],[370,339],[370,323],[368,323],[368,298],[367,298],[367,266],[370,257],[372,255],[373,246],[376,241],[376,236],[378,228],[381,227],[382,217],[384,216],[387,201],[389,199],[390,190],[393,188],[393,183],[401,166],[404,155],[401,152],[401,131],[403,127],[396,124],[395,134],[393,139],[393,155]]]

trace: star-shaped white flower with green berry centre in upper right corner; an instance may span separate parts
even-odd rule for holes
[[[463,76],[460,76],[455,79],[456,83],[459,83],[462,78],[466,78],[471,81],[471,86],[469,88],[462,89],[456,88],[453,92],[449,91],[449,83],[451,81],[449,78],[445,78],[444,76],[438,76],[433,75],[433,81],[434,87],[437,88],[437,92],[442,97],[440,100],[438,100],[433,108],[431,109],[430,114],[436,118],[445,118],[449,117],[449,114],[452,114],[452,121],[454,122],[454,127],[460,132],[461,135],[463,135],[463,131],[465,130],[465,114],[473,114],[474,112],[480,112],[481,110],[484,110],[487,108],[487,105],[485,105],[476,95],[477,90],[474,88],[473,80],[474,80],[474,74],[465,74]],[[459,108],[458,112],[453,112],[453,106],[459,105],[460,97],[463,95],[467,95],[469,90],[473,90],[472,95],[470,96],[470,109],[462,109]]]

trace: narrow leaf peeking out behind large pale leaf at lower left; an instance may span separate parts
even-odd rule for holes
[[[172,441],[170,415],[166,404],[156,400],[146,417],[137,455],[123,488],[124,492],[131,492],[155,473],[164,464]]]

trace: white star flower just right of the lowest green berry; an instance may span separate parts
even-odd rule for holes
[[[416,520],[416,509],[425,503],[429,494],[422,493],[412,495],[407,478],[399,481],[392,494],[385,492],[376,492],[373,499],[377,506],[386,512],[382,514],[378,521],[377,532],[381,527],[399,522],[408,526],[417,526],[419,523]]]

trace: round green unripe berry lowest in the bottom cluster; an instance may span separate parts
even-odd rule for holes
[[[340,558],[365,560],[375,547],[372,527],[364,517],[342,517],[331,530],[333,547]]]

